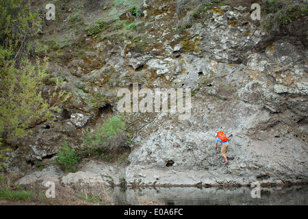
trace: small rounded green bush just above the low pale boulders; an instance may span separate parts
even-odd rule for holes
[[[55,162],[60,164],[60,166],[64,167],[65,172],[75,172],[76,164],[79,162],[80,154],[76,149],[70,148],[67,142],[65,141],[62,144],[62,147],[57,153],[57,158]]]

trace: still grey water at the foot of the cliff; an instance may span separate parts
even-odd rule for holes
[[[261,188],[260,198],[251,196],[253,188],[114,188],[112,197],[116,205],[146,205],[142,198],[156,200],[164,205],[308,205],[308,186],[290,188]]]

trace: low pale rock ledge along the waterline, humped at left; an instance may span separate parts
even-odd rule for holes
[[[60,168],[51,166],[44,170],[36,171],[30,175],[22,177],[16,181],[16,185],[21,185],[25,188],[33,188],[34,185],[44,186],[47,182],[70,186],[97,186],[102,185],[107,188],[121,187],[121,188],[160,188],[160,187],[198,187],[198,188],[234,188],[234,187],[251,187],[251,182],[236,183],[233,182],[217,182],[207,179],[207,183],[203,181],[196,181],[196,183],[174,183],[172,181],[157,183],[144,183],[141,179],[134,179],[127,181],[126,176],[123,175],[125,168],[110,166],[103,164],[103,162],[89,162],[77,172],[69,172],[65,174]],[[181,179],[185,181],[185,179]],[[287,187],[292,185],[307,185],[307,181],[271,181],[262,180],[257,181],[261,188],[268,187]]]

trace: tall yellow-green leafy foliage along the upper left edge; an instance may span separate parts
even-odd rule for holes
[[[51,118],[51,111],[60,110],[55,105],[63,93],[53,92],[50,99],[42,96],[47,59],[29,61],[29,50],[47,50],[31,43],[40,33],[42,21],[30,1],[0,1],[0,140],[23,138],[31,131],[27,129],[30,124]]]

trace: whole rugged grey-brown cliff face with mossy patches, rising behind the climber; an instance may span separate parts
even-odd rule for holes
[[[190,88],[190,117],[125,113],[134,143],[129,164],[109,170],[81,167],[70,175],[109,171],[114,179],[140,185],[307,182],[307,16],[270,34],[242,5],[204,1],[182,9],[179,1],[144,1],[140,16],[127,10],[131,5],[106,3],[88,13],[92,21],[99,13],[118,14],[115,22],[133,23],[132,33],[116,29],[112,19],[111,31],[67,31],[74,14],[83,18],[69,1],[62,5],[63,24],[47,23],[42,40],[49,44],[55,36],[73,33],[54,40],[59,45],[50,51],[51,75],[62,77],[63,89],[73,97],[56,120],[36,125],[32,136],[14,143],[10,168],[23,172],[38,160],[51,164],[64,140],[80,147],[86,128],[118,114],[116,92],[138,83],[139,89],[153,91]],[[98,94],[103,101],[91,101]],[[233,136],[228,165],[215,153],[214,134],[220,130]]]

